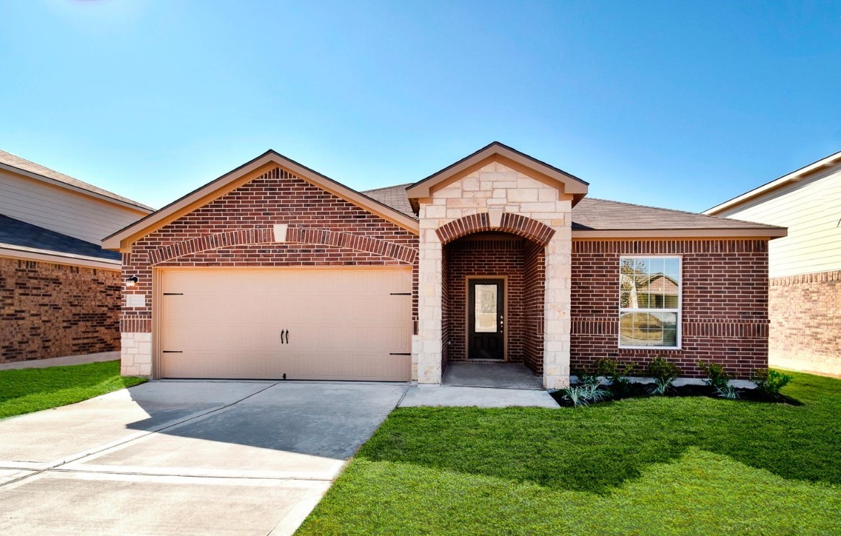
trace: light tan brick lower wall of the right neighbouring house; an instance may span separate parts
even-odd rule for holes
[[[770,280],[772,366],[841,375],[841,271]]]

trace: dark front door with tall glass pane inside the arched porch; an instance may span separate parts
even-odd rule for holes
[[[468,358],[505,359],[505,280],[468,280]]]

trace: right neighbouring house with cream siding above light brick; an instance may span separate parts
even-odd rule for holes
[[[841,374],[841,152],[705,214],[788,227],[768,252],[770,364]]]

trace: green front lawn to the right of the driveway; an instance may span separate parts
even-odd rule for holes
[[[299,534],[841,533],[841,380],[803,406],[400,408]]]

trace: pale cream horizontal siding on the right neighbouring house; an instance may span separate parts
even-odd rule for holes
[[[788,227],[770,241],[771,278],[841,269],[841,166],[718,215]]]

